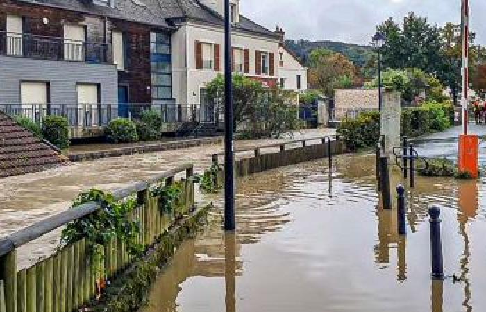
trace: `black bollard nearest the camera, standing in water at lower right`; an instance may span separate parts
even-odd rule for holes
[[[440,208],[432,206],[428,209],[430,215],[430,262],[432,264],[432,278],[444,279],[444,263],[442,260],[442,240],[440,237]]]

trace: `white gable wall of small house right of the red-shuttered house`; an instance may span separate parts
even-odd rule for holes
[[[280,66],[280,53],[283,53],[283,66]],[[303,67],[287,49],[278,48],[278,83],[280,78],[285,78],[285,90],[306,90],[307,89],[307,67]],[[297,75],[301,75],[301,89],[297,89]]]

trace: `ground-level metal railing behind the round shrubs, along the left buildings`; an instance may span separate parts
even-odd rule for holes
[[[24,116],[42,123],[46,116],[64,116],[71,127],[105,127],[119,117],[139,119],[144,110],[160,112],[162,123],[213,123],[219,111],[203,105],[151,103],[114,104],[20,104],[0,103],[0,112],[9,116]]]

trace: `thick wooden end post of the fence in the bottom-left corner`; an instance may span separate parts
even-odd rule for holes
[[[0,279],[3,280],[6,311],[17,311],[17,251],[0,257]]]

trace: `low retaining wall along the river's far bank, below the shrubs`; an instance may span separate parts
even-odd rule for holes
[[[141,144],[137,146],[128,146],[124,148],[113,148],[109,150],[97,150],[94,152],[73,153],[70,154],[69,160],[72,162],[84,162],[87,160],[102,159],[108,157],[119,157],[126,155],[162,152],[163,150],[178,150],[181,148],[191,148],[194,146],[221,144],[222,137],[206,137],[201,139],[187,139],[181,141],[161,142]]]

